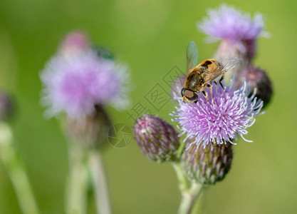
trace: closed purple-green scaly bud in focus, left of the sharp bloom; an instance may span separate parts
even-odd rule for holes
[[[174,161],[179,148],[179,138],[174,128],[161,118],[148,114],[135,122],[135,140],[142,153],[152,161]]]

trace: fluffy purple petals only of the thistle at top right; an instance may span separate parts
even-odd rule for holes
[[[226,39],[240,41],[256,39],[259,35],[267,35],[264,32],[264,19],[261,14],[256,13],[254,20],[250,14],[243,14],[232,6],[222,4],[219,9],[209,9],[209,17],[205,17],[197,28],[209,37],[207,41]]]

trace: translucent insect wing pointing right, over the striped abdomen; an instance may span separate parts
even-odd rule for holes
[[[234,58],[228,58],[224,59],[222,61],[219,61],[221,66],[219,66],[216,70],[209,73],[209,75],[204,79],[204,82],[207,83],[209,81],[213,81],[218,76],[226,73],[227,71],[230,71],[235,66],[238,65],[238,63],[241,61],[240,58],[234,57]]]

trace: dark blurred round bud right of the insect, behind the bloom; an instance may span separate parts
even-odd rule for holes
[[[272,84],[266,71],[249,65],[236,76],[235,87],[239,88],[244,81],[246,81],[247,85],[251,87],[252,90],[257,88],[256,97],[261,98],[261,100],[264,101],[264,106],[266,106],[273,93]]]

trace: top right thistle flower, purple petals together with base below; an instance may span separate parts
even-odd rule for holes
[[[209,42],[222,40],[214,55],[217,59],[237,57],[250,61],[256,52],[256,38],[269,36],[259,13],[251,19],[250,14],[222,4],[219,9],[209,9],[208,14],[197,28],[207,34]]]

